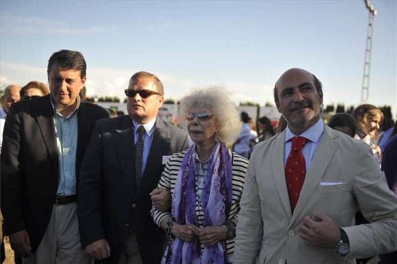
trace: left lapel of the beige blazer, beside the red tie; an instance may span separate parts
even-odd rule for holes
[[[289,203],[287,184],[285,182],[285,172],[284,172],[284,147],[285,147],[285,130],[281,132],[278,137],[274,155],[271,155],[271,167],[273,170],[274,182],[276,184],[278,195],[282,206],[285,209],[288,217],[291,219],[291,205]]]

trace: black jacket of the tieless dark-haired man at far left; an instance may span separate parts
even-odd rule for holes
[[[109,113],[102,107],[80,103],[77,111],[77,176],[95,122],[106,117]],[[0,167],[4,234],[26,229],[34,253],[50,221],[59,182],[50,95],[11,106],[4,125]]]

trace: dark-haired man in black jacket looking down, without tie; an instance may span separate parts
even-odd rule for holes
[[[23,263],[90,262],[78,238],[76,186],[95,122],[109,113],[80,102],[85,71],[81,53],[54,53],[51,93],[13,104],[5,121],[1,211],[4,234]]]

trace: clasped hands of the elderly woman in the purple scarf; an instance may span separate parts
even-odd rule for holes
[[[227,227],[225,225],[220,225],[199,228],[192,224],[181,225],[175,223],[171,229],[171,233],[175,237],[186,242],[191,242],[197,237],[201,244],[205,247],[209,247],[227,238]]]

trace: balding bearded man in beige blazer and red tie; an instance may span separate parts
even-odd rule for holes
[[[321,82],[289,69],[274,99],[288,127],[251,156],[233,263],[343,264],[396,250],[397,197],[366,143],[324,125]],[[354,226],[359,208],[370,224]]]

